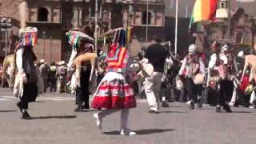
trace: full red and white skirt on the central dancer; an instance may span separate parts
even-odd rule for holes
[[[122,74],[108,72],[102,78],[92,102],[94,109],[124,109],[136,107],[134,90]]]

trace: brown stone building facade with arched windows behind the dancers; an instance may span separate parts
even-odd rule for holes
[[[45,58],[48,63],[69,58],[66,31],[82,30],[92,22],[95,13],[95,0],[0,0],[0,4],[1,15],[12,18],[10,35],[17,37],[18,29],[25,26],[38,27],[38,45],[34,51],[38,59]],[[98,21],[108,29],[134,26],[130,50],[136,55],[146,42],[146,10],[146,0],[99,0]],[[165,40],[162,0],[149,0],[148,18],[148,42],[152,38]],[[101,27],[99,31],[102,32]]]

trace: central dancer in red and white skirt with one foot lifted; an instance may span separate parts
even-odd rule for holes
[[[122,35],[122,30],[119,31]],[[134,135],[135,132],[127,128],[130,108],[136,107],[134,91],[126,81],[126,66],[129,59],[128,51],[119,43],[112,44],[108,53],[106,75],[102,78],[98,90],[94,95],[92,107],[105,108],[94,114],[96,124],[101,129],[102,119],[107,115],[121,111],[121,135]]]

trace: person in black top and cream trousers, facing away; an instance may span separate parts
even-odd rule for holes
[[[147,47],[145,58],[154,67],[154,72],[150,77],[145,78],[145,93],[148,104],[150,105],[149,113],[159,113],[160,90],[162,83],[162,74],[166,62],[167,50],[160,44],[160,40],[154,40],[153,44]],[[166,103],[167,105],[167,103]],[[168,106],[168,105],[167,105]]]

